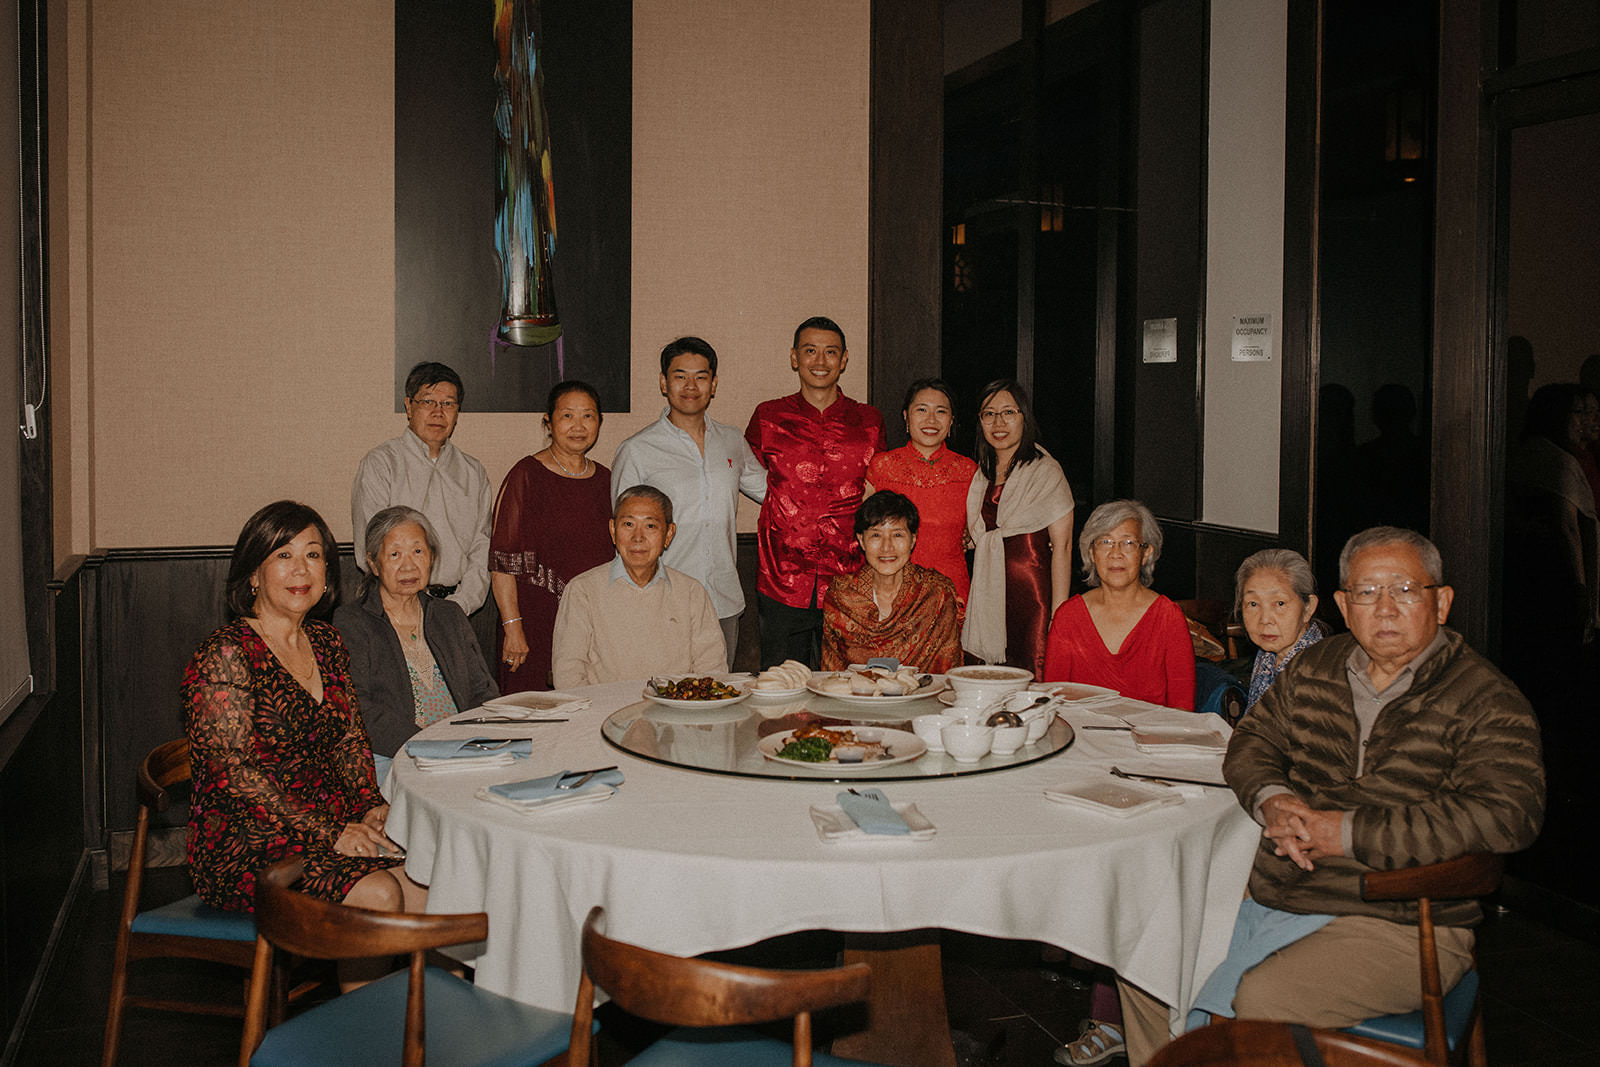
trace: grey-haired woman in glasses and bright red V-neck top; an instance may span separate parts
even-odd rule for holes
[[[1150,589],[1162,528],[1139,501],[1101,504],[1078,536],[1090,589],[1061,605],[1046,681],[1083,681],[1192,712],[1195,653],[1182,609]]]

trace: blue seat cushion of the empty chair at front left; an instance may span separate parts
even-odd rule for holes
[[[267,1030],[250,1062],[261,1067],[400,1062],[406,971],[317,1005]],[[427,968],[422,977],[427,1062],[526,1067],[566,1051],[573,1017],[518,1003]]]

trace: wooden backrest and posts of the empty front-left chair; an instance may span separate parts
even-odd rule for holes
[[[490,933],[490,917],[483,912],[470,915],[379,912],[318,901],[291,888],[302,873],[304,864],[291,857],[256,875],[256,960],[250,977],[250,1003],[245,1008],[242,1067],[250,1064],[250,1056],[259,1048],[266,1033],[267,990],[275,947],[314,960],[410,953],[402,1062],[405,1067],[419,1067],[424,1049],[422,953],[427,949],[483,941]]]

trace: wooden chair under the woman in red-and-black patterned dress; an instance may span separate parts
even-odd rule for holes
[[[150,837],[150,814],[165,813],[171,806],[173,790],[189,784],[189,741],[179,737],[157,745],[139,763],[138,793],[139,817],[133,832],[133,851],[128,856],[128,885],[122,894],[122,918],[117,923],[117,953],[110,971],[110,1006],[106,1011],[106,1043],[101,1062],[110,1067],[117,1062],[122,1041],[122,1022],[126,1008],[158,1008],[162,1011],[190,1011],[198,1014],[243,1016],[245,998],[237,1003],[174,1000],[146,997],[128,992],[128,965],[134,960],[178,957],[186,960],[210,960],[248,971],[256,949],[256,923],[242,912],[221,912],[202,904],[198,896],[139,910],[139,894],[144,888],[144,861]]]

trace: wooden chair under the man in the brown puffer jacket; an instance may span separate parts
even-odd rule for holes
[[[1438,977],[1438,950],[1434,941],[1432,901],[1459,901],[1493,893],[1499,886],[1506,857],[1469,853],[1442,864],[1373,870],[1362,875],[1363,901],[1416,901],[1418,957],[1422,971],[1422,1008],[1398,1016],[1379,1016],[1346,1033],[1422,1049],[1424,1062],[1485,1067],[1483,1013],[1478,1003],[1478,973],[1469,969],[1448,993]]]

